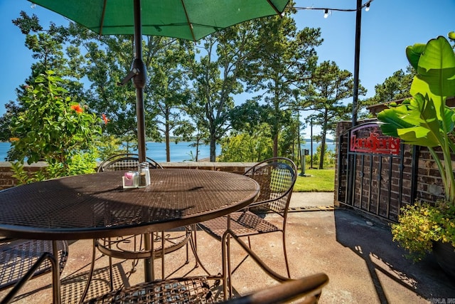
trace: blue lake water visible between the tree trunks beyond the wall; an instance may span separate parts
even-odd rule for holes
[[[196,148],[190,147],[192,142],[178,142],[177,144],[171,142],[171,162],[183,162],[191,160],[191,152],[193,155],[196,155]],[[320,144],[313,142],[313,154],[316,154],[316,147]],[[302,149],[310,150],[310,143],[301,145]],[[6,153],[11,147],[9,142],[0,142],[0,162],[4,161],[6,158]],[[164,142],[147,142],[146,143],[147,151],[146,154],[148,157],[155,159],[156,162],[166,162],[166,144]],[[335,143],[327,143],[328,150],[335,150]],[[135,151],[131,151],[134,153]],[[221,152],[221,147],[218,145],[216,149],[217,156]],[[210,147],[208,145],[199,146],[199,157],[198,159],[204,159],[210,157]]]

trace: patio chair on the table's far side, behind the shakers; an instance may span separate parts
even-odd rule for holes
[[[149,162],[150,169],[163,169],[161,165],[146,157],[146,162]],[[117,154],[109,157],[100,164],[97,172],[106,171],[120,171],[120,170],[135,170],[139,167],[139,155],[138,154]],[[112,285],[112,258],[124,258],[132,260],[132,272],[136,271],[136,266],[141,258],[161,258],[161,276],[164,278],[164,255],[178,250],[179,248],[188,244],[188,240],[191,237],[191,230],[189,228],[182,228],[174,231],[164,231],[161,234],[154,234],[151,242],[154,246],[151,247],[150,251],[145,250],[144,237],[149,237],[148,234],[145,236],[132,235],[118,238],[104,238],[97,239],[95,241],[98,250],[109,257],[109,276],[111,278],[110,284]],[[156,244],[156,245],[155,245]],[[164,249],[163,249],[164,248]],[[187,261],[188,263],[188,246],[187,246]]]

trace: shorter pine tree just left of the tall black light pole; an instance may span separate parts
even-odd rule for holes
[[[336,122],[348,118],[352,106],[346,107],[343,100],[352,97],[353,85],[353,75],[348,70],[340,70],[333,61],[321,63],[311,78],[307,90],[311,100],[308,110],[316,112],[311,115],[313,124],[322,127],[319,169],[323,169],[327,132],[335,130]],[[365,88],[361,85],[359,95],[365,95]]]

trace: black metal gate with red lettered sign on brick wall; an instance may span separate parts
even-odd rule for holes
[[[414,201],[414,157],[405,158],[404,145],[382,135],[377,122],[353,127],[338,140],[338,201],[397,221],[402,201]]]

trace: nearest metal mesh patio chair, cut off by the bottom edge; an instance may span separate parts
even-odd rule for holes
[[[84,303],[220,303],[223,299],[225,301],[222,303],[226,304],[276,304],[295,300],[303,300],[299,303],[317,303],[319,301],[322,288],[328,283],[328,276],[325,273],[298,279],[285,278],[272,271],[243,241],[232,235],[232,231],[226,231],[223,238],[228,235],[239,242],[267,275],[282,283],[262,288],[250,295],[226,300],[226,288],[223,288],[223,291],[220,290],[219,276],[172,278],[115,290]],[[223,254],[225,254],[224,246]],[[224,270],[225,267],[223,267]],[[227,277],[223,276],[223,287],[227,284],[230,284],[230,278],[228,283]]]

